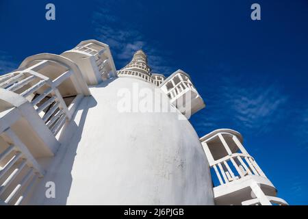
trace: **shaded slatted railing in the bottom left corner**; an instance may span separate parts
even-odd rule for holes
[[[6,205],[21,205],[44,170],[29,153],[12,129],[1,133],[7,144],[0,153],[0,201]]]

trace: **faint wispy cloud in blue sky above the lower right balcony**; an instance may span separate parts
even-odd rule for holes
[[[282,108],[288,97],[282,94],[277,84],[266,87],[259,84],[249,87],[224,86],[223,90],[222,98],[238,126],[258,133],[268,132],[285,114]]]

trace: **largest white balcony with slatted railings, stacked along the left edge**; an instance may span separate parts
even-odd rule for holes
[[[66,121],[88,95],[79,68],[60,55],[27,57],[0,77],[0,204],[27,201],[44,177],[38,159],[55,155]]]

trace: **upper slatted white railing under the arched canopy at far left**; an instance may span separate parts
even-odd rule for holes
[[[62,74],[59,80],[53,81],[60,84],[64,79],[69,77],[70,71]],[[30,82],[34,82],[29,86]],[[46,88],[41,94],[36,94],[38,89]],[[25,88],[26,87],[26,88]],[[31,105],[33,105],[36,112],[44,120],[44,123],[49,127],[53,135],[64,125],[67,115],[67,107],[62,99],[57,88],[50,86],[50,81],[47,77],[34,72],[33,70],[25,72],[15,72],[10,75],[0,77],[0,88],[5,88],[11,92],[23,96]],[[34,98],[33,98],[34,96]]]

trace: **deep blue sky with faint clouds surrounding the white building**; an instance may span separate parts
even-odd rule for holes
[[[86,3],[85,3],[86,2]],[[46,21],[54,3],[56,20]],[[252,21],[251,4],[261,5]],[[81,40],[110,45],[116,67],[142,48],[158,73],[189,73],[207,107],[199,136],[231,128],[290,204],[308,204],[308,2],[0,0],[0,73]]]

